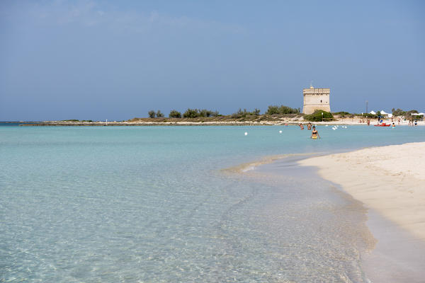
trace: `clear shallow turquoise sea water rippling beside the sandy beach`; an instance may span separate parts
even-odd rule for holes
[[[0,281],[363,282],[361,205],[290,165],[222,171],[425,141],[425,127],[318,130],[2,126]]]

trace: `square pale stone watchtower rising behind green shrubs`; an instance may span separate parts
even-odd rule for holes
[[[324,110],[331,112],[329,104],[330,88],[304,88],[302,95],[304,96],[304,106],[302,112],[304,114],[312,114],[315,110]]]

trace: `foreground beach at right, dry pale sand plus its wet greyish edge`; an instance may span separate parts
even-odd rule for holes
[[[372,282],[425,277],[425,142],[306,158],[300,166],[341,187],[368,209],[377,245],[363,257]]]

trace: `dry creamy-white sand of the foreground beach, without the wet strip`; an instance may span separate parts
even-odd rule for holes
[[[425,142],[373,147],[300,161],[366,207],[425,240]]]

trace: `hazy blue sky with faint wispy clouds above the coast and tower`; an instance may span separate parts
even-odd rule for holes
[[[425,111],[425,1],[0,1],[0,120]]]

